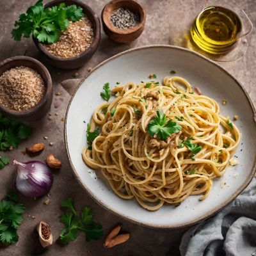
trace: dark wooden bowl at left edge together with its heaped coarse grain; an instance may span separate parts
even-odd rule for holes
[[[0,63],[0,112],[18,121],[42,118],[52,103],[51,76],[40,61],[15,56]]]

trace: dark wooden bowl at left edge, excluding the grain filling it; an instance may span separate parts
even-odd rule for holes
[[[47,113],[52,103],[51,76],[47,68],[45,68],[45,66],[40,61],[28,56],[15,56],[2,61],[0,63],[0,76],[6,70],[19,66],[32,68],[36,70],[38,74],[40,74],[40,76],[44,80],[46,88],[45,93],[40,102],[38,102],[38,104],[36,104],[36,106],[34,106],[31,109],[28,109],[26,111],[14,111],[12,109],[4,108],[0,104],[0,112],[17,121],[33,121],[42,118],[42,116],[44,116]]]

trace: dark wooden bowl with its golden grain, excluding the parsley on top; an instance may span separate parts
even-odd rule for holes
[[[61,3],[81,7],[83,18],[76,22],[70,20],[68,28],[53,44],[42,44],[34,37],[33,41],[47,63],[64,69],[78,68],[90,60],[97,51],[100,42],[100,21],[89,6],[77,0],[54,0],[45,4],[44,8],[58,6]]]

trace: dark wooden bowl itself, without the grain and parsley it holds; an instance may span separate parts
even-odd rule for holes
[[[47,4],[45,4],[45,7],[51,7],[58,5],[60,3],[65,2],[67,5],[76,4],[77,6],[80,6],[83,8],[84,14],[88,17],[88,19],[92,22],[93,25],[93,31],[94,31],[94,39],[92,44],[83,52],[81,52],[79,55],[70,57],[70,58],[62,58],[59,56],[55,56],[51,54],[47,49],[45,49],[44,44],[41,44],[38,42],[36,38],[33,37],[33,41],[36,45],[36,47],[39,49],[40,52],[42,52],[44,56],[44,60],[47,61],[47,63],[51,64],[54,67],[58,68],[64,68],[64,69],[72,69],[72,68],[78,68],[84,65],[86,61],[90,60],[92,58],[93,54],[97,50],[100,42],[100,20],[97,17],[97,14],[93,12],[93,10],[86,4],[77,1],[77,0],[54,0]]]

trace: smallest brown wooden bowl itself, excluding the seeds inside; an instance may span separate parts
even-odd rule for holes
[[[133,12],[138,13],[140,15],[140,22],[136,26],[128,29],[115,28],[110,21],[111,13],[121,7],[128,8]],[[102,10],[101,19],[103,29],[109,38],[118,43],[129,43],[138,38],[142,33],[146,21],[146,12],[143,6],[137,1],[113,0],[106,4]]]

